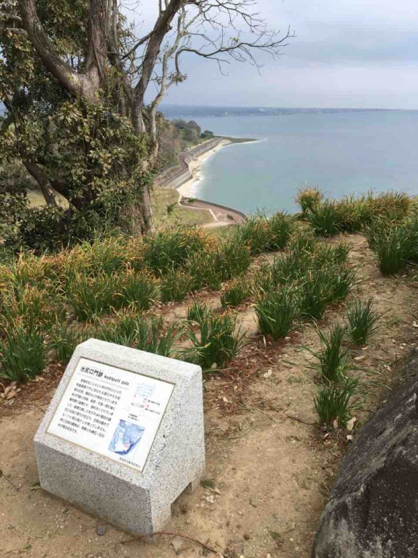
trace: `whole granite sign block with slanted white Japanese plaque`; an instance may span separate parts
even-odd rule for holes
[[[205,468],[201,368],[88,340],[34,445],[41,488],[133,534],[159,531]]]

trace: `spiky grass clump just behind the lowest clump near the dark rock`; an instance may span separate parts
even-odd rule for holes
[[[338,382],[348,369],[348,353],[342,347],[345,333],[346,329],[341,324],[336,324],[328,333],[318,329],[322,350],[314,352],[308,349],[318,360],[314,368],[328,382]]]

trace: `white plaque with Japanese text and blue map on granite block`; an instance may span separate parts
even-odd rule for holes
[[[80,359],[47,432],[142,471],[173,388]]]

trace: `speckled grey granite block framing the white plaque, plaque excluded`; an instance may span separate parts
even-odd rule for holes
[[[175,384],[142,471],[48,432],[82,358]],[[40,486],[134,534],[162,529],[171,504],[205,467],[201,368],[88,340],[75,349],[34,439]]]

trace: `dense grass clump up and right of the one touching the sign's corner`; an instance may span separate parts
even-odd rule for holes
[[[270,335],[274,340],[286,337],[297,317],[298,302],[295,292],[287,287],[265,294],[263,299],[254,304],[258,331]]]

